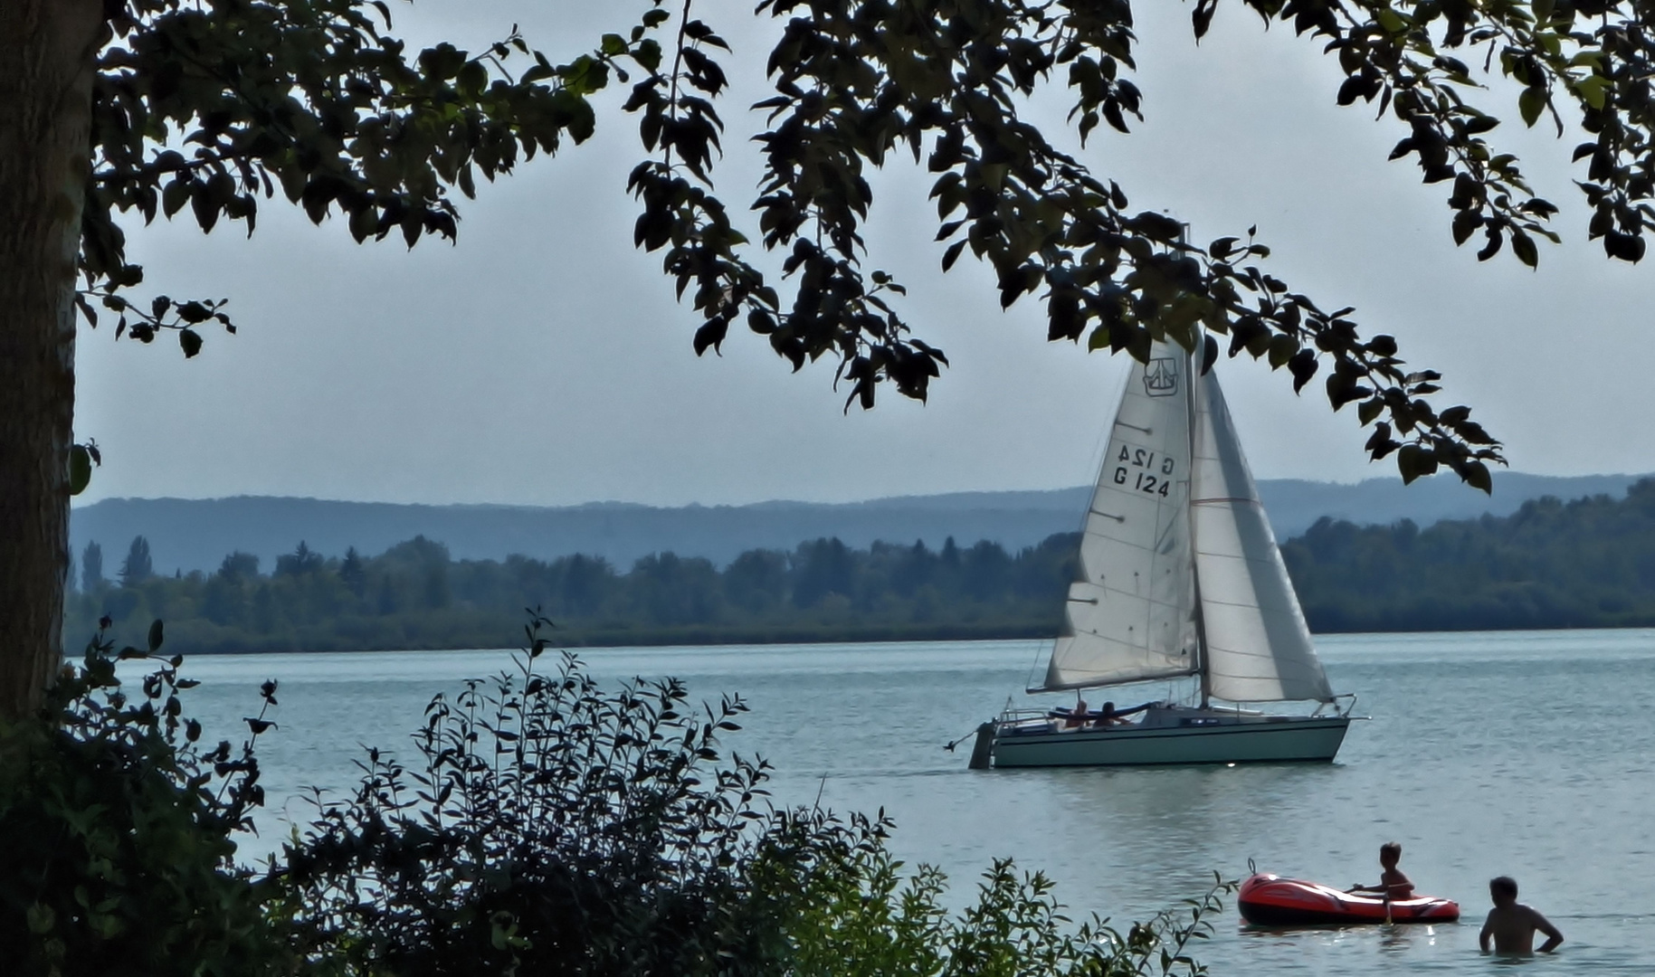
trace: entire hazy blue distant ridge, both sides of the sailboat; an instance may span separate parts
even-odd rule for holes
[[[1620,497],[1643,475],[1551,477],[1499,472],[1486,497],[1448,479],[1403,487],[1394,477],[1354,485],[1276,479],[1259,482],[1276,535],[1288,540],[1317,518],[1389,525],[1410,518],[1428,527],[1445,518],[1509,515],[1542,495]],[[1089,488],[1028,492],[953,492],[847,503],[758,502],[751,505],[650,507],[597,502],[571,507],[401,505],[243,495],[232,498],[106,498],[78,507],[70,518],[79,558],[96,540],[104,573],[113,576],[127,543],[151,543],[157,573],[215,570],[230,551],[260,558],[268,570],[303,540],[311,550],[362,553],[424,535],[457,560],[498,560],[511,553],[553,560],[571,553],[602,556],[619,568],[650,553],[705,556],[728,563],[753,548],[793,550],[799,541],[837,537],[851,546],[875,540],[940,546],[993,540],[1008,550],[1031,546],[1051,533],[1074,532]]]

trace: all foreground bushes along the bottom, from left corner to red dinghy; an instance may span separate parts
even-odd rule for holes
[[[541,624],[516,671],[432,700],[417,762],[369,750],[263,874],[233,856],[268,724],[200,752],[179,661],[127,699],[114,662],[149,652],[94,643],[50,715],[0,735],[0,947],[23,947],[5,974],[1203,972],[1185,946],[1223,886],[1119,934],[996,863],[952,912],[942,873],[892,859],[884,820],[773,810],[766,765],[723,760],[740,699],[602,691],[568,654],[540,674]]]

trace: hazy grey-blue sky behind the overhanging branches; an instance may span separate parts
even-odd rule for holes
[[[624,30],[644,3],[420,0],[396,5],[397,33],[482,48],[513,23],[553,58]],[[718,192],[751,199],[766,40],[751,0],[703,0],[725,33],[735,81]],[[1483,93],[1508,123],[1539,195],[1559,204],[1562,247],[1531,272],[1509,250],[1478,263],[1450,237],[1448,184],[1422,185],[1413,159],[1387,162],[1405,132],[1374,108],[1334,103],[1341,75],[1321,46],[1240,5],[1197,45],[1188,5],[1137,10],[1145,123],[1077,152],[1134,209],[1165,210],[1195,240],[1256,224],[1266,270],[1322,308],[1357,306],[1364,333],[1390,333],[1413,364],[1445,374],[1442,406],[1471,404],[1516,470],[1655,470],[1655,268],[1610,263],[1585,240],[1569,182],[1576,134],[1524,131],[1513,93]],[[1089,482],[1125,363],[1044,339],[1043,310],[1001,311],[993,277],[962,260],[938,270],[928,180],[907,159],[875,179],[867,268],[909,286],[905,318],[952,366],[927,404],[885,392],[842,411],[832,366],[799,374],[750,333],[695,358],[693,313],[659,258],[632,248],[626,176],[640,159],[621,94],[599,132],[536,159],[462,205],[458,243],[356,245],[344,222],[313,227],[285,199],[258,232],[222,222],[129,225],[149,288],[230,298],[237,336],[207,333],[185,361],[170,338],[116,343],[83,326],[76,436],[104,465],[81,503],[106,497],[305,495],[374,502],[571,505],[847,502],[933,492],[1058,488]],[[1061,124],[1056,103],[1029,106]],[[187,215],[187,210],[184,212]],[[751,235],[751,237],[756,237]],[[1360,450],[1354,411],[1296,397],[1288,374],[1246,356],[1218,369],[1259,479],[1354,482],[1394,475]]]

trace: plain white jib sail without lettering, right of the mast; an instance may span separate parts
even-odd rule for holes
[[[1206,672],[1230,702],[1332,699],[1213,373],[1195,387],[1195,573]]]

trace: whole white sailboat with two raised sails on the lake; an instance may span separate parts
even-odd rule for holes
[[[1008,704],[978,727],[973,768],[1327,762],[1339,752],[1354,699],[1334,695],[1316,657],[1218,378],[1198,374],[1180,346],[1155,343],[1132,366],[1079,565],[1067,626],[1026,689],[1072,691],[1074,707]],[[1180,681],[1190,692],[1177,702],[1092,712],[1082,699]],[[1256,709],[1274,702],[1314,712]]]

